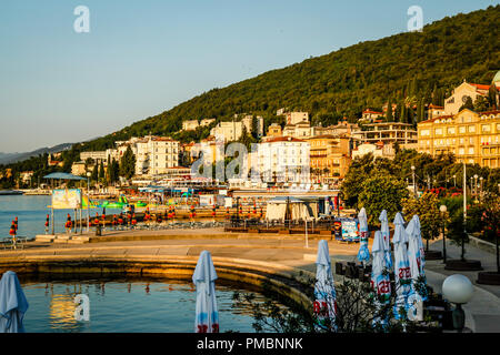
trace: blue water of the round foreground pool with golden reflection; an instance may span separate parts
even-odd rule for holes
[[[29,303],[24,328],[31,333],[191,333],[194,327],[196,288],[177,281],[50,281],[21,284]],[[217,282],[220,332],[254,332],[253,317],[232,301],[234,284]],[[90,321],[76,321],[77,294],[90,300]]]

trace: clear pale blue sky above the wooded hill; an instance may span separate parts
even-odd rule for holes
[[[1,0],[0,152],[117,131],[212,88],[486,0]],[[90,33],[73,31],[77,6]]]

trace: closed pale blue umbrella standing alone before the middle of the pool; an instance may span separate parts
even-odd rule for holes
[[[219,333],[219,312],[216,300],[216,267],[210,252],[202,251],[192,282],[197,286],[196,333]]]

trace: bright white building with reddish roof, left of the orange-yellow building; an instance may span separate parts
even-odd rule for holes
[[[277,136],[258,144],[257,169],[263,182],[309,183],[309,142],[291,136]]]

